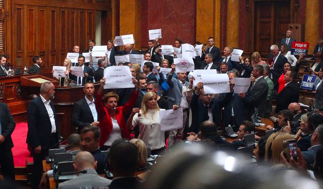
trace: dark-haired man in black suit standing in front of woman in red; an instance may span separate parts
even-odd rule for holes
[[[296,72],[287,71],[284,80],[286,81],[283,90],[278,93],[276,98],[275,113],[280,112],[283,109],[288,109],[288,105],[292,102],[298,102],[299,100],[299,87],[295,82]]]

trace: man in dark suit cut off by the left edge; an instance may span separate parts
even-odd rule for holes
[[[14,158],[11,151],[14,147],[11,134],[15,127],[16,123],[8,105],[0,103],[0,167],[7,181],[15,180]]]

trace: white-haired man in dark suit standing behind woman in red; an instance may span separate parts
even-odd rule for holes
[[[284,64],[288,62],[287,58],[279,51],[277,45],[271,46],[271,54],[274,56],[269,62],[274,62],[271,65],[271,74],[273,76],[273,83],[275,85],[275,89],[278,90],[278,78],[284,72]]]

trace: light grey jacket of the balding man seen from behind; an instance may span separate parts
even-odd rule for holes
[[[94,169],[85,169],[86,173],[80,173],[76,178],[67,180],[59,184],[59,188],[72,186],[91,185],[93,188],[109,186],[111,180],[101,177]]]

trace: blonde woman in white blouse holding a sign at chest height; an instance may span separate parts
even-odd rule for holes
[[[127,121],[129,130],[139,126],[138,138],[150,145],[152,155],[165,151],[165,132],[160,131],[159,110],[156,93],[147,92],[142,98],[141,108],[133,108]]]

